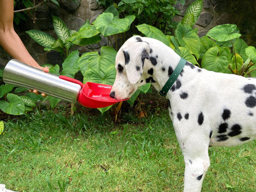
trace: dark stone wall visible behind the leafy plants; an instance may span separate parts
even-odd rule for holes
[[[186,0],[184,6],[177,4],[181,15],[185,14],[186,8],[195,0]],[[52,15],[62,18],[70,30],[78,30],[80,26],[89,19],[93,22],[103,12],[96,0],[58,0],[60,7],[47,2],[36,9],[36,20],[28,18],[17,26],[17,33],[28,48],[30,54],[39,64],[62,63],[62,57],[57,52],[45,52],[33,39],[25,33],[30,29],[45,31],[52,34],[55,39]],[[233,23],[239,26],[247,44],[256,46],[256,0],[203,0],[204,7],[195,27],[199,28],[199,36],[203,36],[216,25]],[[31,15],[31,17],[34,15]],[[182,16],[176,16],[175,21],[182,20]],[[86,47],[79,47],[81,54],[86,52]],[[0,47],[0,68],[6,65],[11,57]],[[2,66],[1,66],[2,65]]]

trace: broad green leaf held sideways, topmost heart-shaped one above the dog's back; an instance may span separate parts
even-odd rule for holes
[[[236,25],[231,24],[217,25],[208,31],[206,35],[215,41],[230,41],[241,36],[239,33],[234,33],[234,31],[236,31],[236,27]]]

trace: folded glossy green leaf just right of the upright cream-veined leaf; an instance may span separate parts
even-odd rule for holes
[[[100,31],[98,31],[94,25],[83,25],[78,32],[68,38],[68,41],[79,46],[94,44],[102,39],[98,35],[99,33]]]

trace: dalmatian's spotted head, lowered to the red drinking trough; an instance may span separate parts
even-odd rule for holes
[[[150,59],[148,42],[140,36],[128,39],[116,55],[116,79],[110,92],[110,97],[116,99],[129,98],[138,87],[145,84],[142,81],[144,63]]]

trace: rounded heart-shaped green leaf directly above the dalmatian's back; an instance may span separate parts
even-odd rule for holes
[[[230,63],[230,49],[228,47],[214,46],[207,50],[202,57],[202,68],[206,70],[227,73]]]

